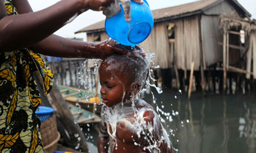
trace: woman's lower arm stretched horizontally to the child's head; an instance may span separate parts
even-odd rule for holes
[[[113,40],[99,43],[70,40],[51,35],[36,45],[31,46],[37,53],[57,57],[81,57],[104,59],[114,52],[131,55],[128,49]]]

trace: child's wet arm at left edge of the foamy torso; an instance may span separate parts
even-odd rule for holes
[[[107,153],[109,150],[109,134],[107,125],[100,120],[99,136],[98,136],[98,153]]]

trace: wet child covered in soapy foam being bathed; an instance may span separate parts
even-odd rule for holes
[[[113,54],[99,68],[104,103],[98,152],[174,153],[154,108],[139,99],[148,75],[145,58]],[[110,137],[110,140],[109,140]]]

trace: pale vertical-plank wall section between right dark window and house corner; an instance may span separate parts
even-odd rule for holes
[[[199,70],[201,58],[197,16],[175,21],[175,48],[174,61],[178,69],[190,70],[194,61],[194,70]]]

